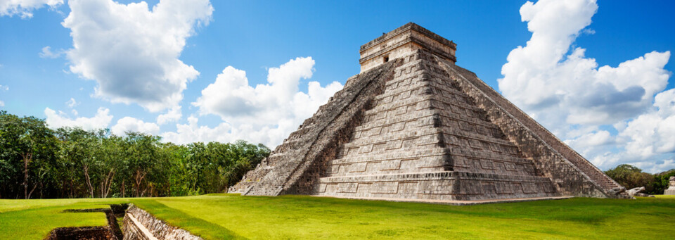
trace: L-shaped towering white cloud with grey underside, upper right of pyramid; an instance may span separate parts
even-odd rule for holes
[[[585,49],[567,54],[597,8],[584,0],[523,5],[520,13],[532,38],[509,53],[499,80],[503,94],[544,122],[555,122],[551,125],[612,124],[643,113],[667,85],[663,67],[670,53],[646,53],[617,68],[598,68]]]

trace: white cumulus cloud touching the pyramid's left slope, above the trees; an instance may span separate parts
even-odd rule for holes
[[[245,139],[271,147],[281,144],[335,91],[342,89],[339,82],[326,87],[309,82],[307,93],[300,91],[300,80],[310,78],[313,68],[311,57],[295,58],[278,68],[269,68],[267,84],[254,87],[245,71],[229,66],[192,103],[200,115],[218,115],[224,122],[210,128],[198,125],[198,119],[190,117],[188,124],[176,125],[176,132],[162,137],[178,143]]]

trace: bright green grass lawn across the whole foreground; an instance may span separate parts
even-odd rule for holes
[[[675,196],[442,206],[311,196],[0,200],[0,239],[105,225],[110,203],[140,208],[205,239],[673,239]]]

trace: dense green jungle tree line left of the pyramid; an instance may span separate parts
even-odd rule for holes
[[[269,149],[246,141],[176,145],[139,132],[64,127],[0,110],[0,198],[188,196],[224,192]]]

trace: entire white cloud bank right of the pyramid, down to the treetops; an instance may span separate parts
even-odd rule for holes
[[[571,47],[579,34],[593,33],[586,27],[597,10],[594,0],[524,4],[532,37],[509,53],[499,90],[600,168],[675,168],[675,96],[664,91],[670,52],[600,66]]]

